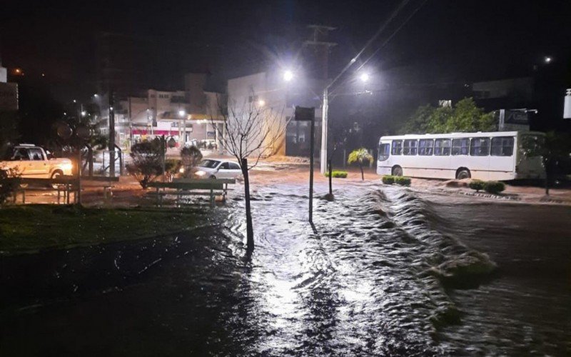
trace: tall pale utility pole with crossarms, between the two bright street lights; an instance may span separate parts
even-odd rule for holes
[[[328,42],[327,37],[329,31],[335,30],[335,27],[322,25],[309,25],[309,29],[313,30],[312,38],[305,41],[305,46],[313,46],[318,56],[321,68],[321,78],[323,79],[323,102],[321,104],[321,152],[320,152],[320,171],[325,174],[327,170],[327,130],[328,130],[328,88],[329,88],[329,49],[335,46],[334,42]]]

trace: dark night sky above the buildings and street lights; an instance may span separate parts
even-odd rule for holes
[[[182,88],[186,71],[220,79],[248,74],[269,61],[295,59],[305,25],[338,29],[330,56],[335,76],[400,1],[9,1],[2,5],[4,66],[41,76],[61,101],[87,97],[96,86],[95,37],[100,31],[148,37],[168,48],[156,87]],[[424,1],[410,0],[377,47]],[[568,81],[571,1],[428,0],[368,63],[375,71],[440,64],[443,79],[470,81],[528,74],[552,56]],[[160,46],[159,46],[160,47]],[[311,64],[305,64],[310,73]],[[180,79],[180,82],[177,82]]]

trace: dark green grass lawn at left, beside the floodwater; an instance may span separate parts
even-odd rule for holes
[[[195,227],[198,210],[26,205],[0,208],[0,253],[128,241]]]

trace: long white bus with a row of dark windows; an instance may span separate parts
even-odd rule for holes
[[[544,134],[495,131],[383,136],[377,174],[424,178],[513,180],[545,178],[541,157],[525,157],[520,145],[540,145]]]

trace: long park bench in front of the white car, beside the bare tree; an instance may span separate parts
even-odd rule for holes
[[[148,187],[156,189],[156,202],[161,206],[162,198],[166,195],[176,195],[176,200],[179,201],[181,196],[197,195],[209,196],[210,204],[214,206],[214,198],[217,194],[221,194],[223,200],[226,200],[228,194],[228,184],[234,184],[236,180],[229,178],[205,178],[205,179],[192,179],[192,178],[175,178],[172,182],[151,182]],[[163,191],[161,192],[161,188]],[[166,191],[166,188],[172,191]]]

